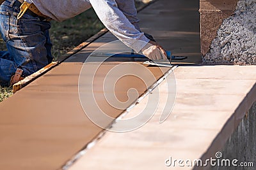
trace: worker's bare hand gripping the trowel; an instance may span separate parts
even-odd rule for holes
[[[154,41],[149,41],[148,44],[141,49],[143,55],[151,60],[167,60],[167,55],[162,46]]]

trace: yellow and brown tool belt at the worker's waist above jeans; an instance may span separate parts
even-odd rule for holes
[[[20,8],[20,13],[17,17],[18,20],[24,15],[24,13],[28,13],[33,17],[39,17],[41,20],[52,20],[52,18],[41,13],[33,3],[29,4],[23,0],[17,0],[15,1],[14,5]]]

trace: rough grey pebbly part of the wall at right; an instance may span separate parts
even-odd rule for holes
[[[223,21],[203,61],[256,65],[256,0],[238,1],[234,15]]]

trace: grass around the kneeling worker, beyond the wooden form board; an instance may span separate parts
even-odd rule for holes
[[[137,8],[142,5],[143,3],[136,3]],[[84,11],[80,15],[64,22],[51,21],[51,24],[50,36],[53,44],[52,56],[54,60],[83,43],[104,27],[93,9]],[[5,43],[1,37],[0,50],[6,50]],[[0,87],[0,102],[12,96],[12,94],[11,88]]]

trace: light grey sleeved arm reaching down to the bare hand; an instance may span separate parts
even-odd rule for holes
[[[90,3],[102,23],[125,45],[139,52],[148,43],[149,39],[129,22],[115,0],[90,0]]]

